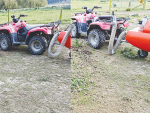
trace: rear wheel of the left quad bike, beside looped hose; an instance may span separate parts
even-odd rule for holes
[[[41,55],[46,51],[47,40],[42,36],[33,36],[28,44],[28,49],[33,55]]]

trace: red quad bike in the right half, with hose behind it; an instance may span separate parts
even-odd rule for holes
[[[84,7],[86,13],[77,13],[71,18],[76,21],[73,23],[74,27],[71,35],[72,37],[77,37],[79,34],[84,34],[88,36],[90,46],[99,49],[104,45],[105,40],[110,40],[113,21],[117,22],[115,42],[124,31],[124,28],[129,26],[129,23],[125,17],[116,18],[114,13],[112,15],[98,16],[92,12],[94,8],[100,7],[94,6],[92,10]]]

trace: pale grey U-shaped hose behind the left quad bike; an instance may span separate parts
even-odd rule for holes
[[[68,37],[69,37],[69,35],[70,35],[70,33],[71,33],[71,27],[70,27],[70,29],[66,32],[65,36],[63,37],[63,40],[62,40],[61,44],[59,45],[58,50],[57,50],[55,53],[52,53],[52,47],[54,46],[55,41],[57,41],[57,39],[58,39],[59,32],[56,33],[56,34],[53,36],[53,38],[52,38],[52,40],[51,40],[51,42],[50,42],[50,44],[49,44],[49,48],[48,48],[48,56],[49,56],[49,57],[55,58],[55,57],[57,57],[57,56],[60,54],[60,52],[62,51],[63,46],[65,45],[65,43],[66,43],[66,41],[67,41],[67,39],[68,39]]]

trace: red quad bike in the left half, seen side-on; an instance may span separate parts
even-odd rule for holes
[[[46,51],[55,29],[59,22],[49,24],[29,25],[26,21],[19,21],[11,16],[12,22],[0,25],[0,47],[3,51],[11,49],[13,45],[28,45],[29,51],[34,55],[40,55]]]

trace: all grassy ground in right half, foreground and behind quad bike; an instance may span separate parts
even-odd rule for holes
[[[78,4],[78,5],[77,5]],[[92,8],[98,14],[107,15],[109,3],[99,1],[72,1],[72,16],[75,12],[84,12],[83,6]],[[145,11],[126,12],[118,9],[116,17],[129,17],[130,27],[137,27],[139,20],[149,15],[149,3]],[[120,10],[120,11],[119,11]],[[121,51],[125,48],[137,54],[137,48],[122,43],[115,55],[108,55],[108,42],[101,49],[89,46],[86,37],[72,39],[72,113],[149,113],[150,112],[150,55],[145,59],[125,57]]]

